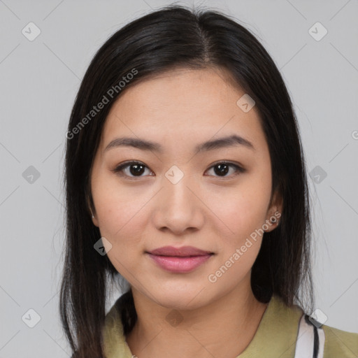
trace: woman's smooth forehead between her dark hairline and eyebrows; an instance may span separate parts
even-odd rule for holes
[[[115,101],[103,128],[102,148],[124,134],[160,143],[169,138],[201,143],[231,134],[262,141],[257,108],[245,113],[237,104],[244,94],[222,69],[160,73],[129,87]]]

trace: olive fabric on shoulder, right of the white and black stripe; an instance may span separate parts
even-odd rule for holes
[[[341,331],[323,324],[324,331],[324,358],[357,358],[358,333]]]

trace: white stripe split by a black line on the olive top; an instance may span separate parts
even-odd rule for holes
[[[294,358],[312,358],[313,347],[315,343],[315,327],[313,324],[308,324],[303,314],[299,322],[299,333],[296,341],[296,350]],[[324,331],[322,328],[317,328],[318,334],[318,354],[317,358],[323,358],[324,350]]]

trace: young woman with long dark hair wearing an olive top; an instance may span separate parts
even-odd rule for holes
[[[66,134],[60,310],[73,357],[357,357],[313,312],[303,151],[278,69],[169,6],[96,53]],[[105,315],[108,289],[128,284]]]

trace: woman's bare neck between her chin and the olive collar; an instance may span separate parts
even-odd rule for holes
[[[138,320],[126,341],[138,358],[236,357],[252,341],[268,303],[237,287],[206,306],[175,310],[132,287]]]

